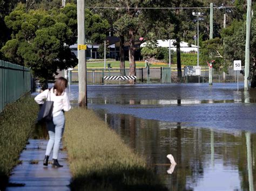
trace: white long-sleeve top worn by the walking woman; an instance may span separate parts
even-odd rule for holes
[[[58,116],[62,110],[69,111],[71,109],[69,97],[65,91],[62,93],[62,95],[56,96],[55,93],[53,93],[53,88],[51,88],[50,93],[49,94],[48,93],[49,93],[48,89],[44,90],[41,94],[38,94],[35,97],[35,101],[38,104],[43,104],[45,98],[47,101],[53,101],[53,110],[52,110],[53,117]]]

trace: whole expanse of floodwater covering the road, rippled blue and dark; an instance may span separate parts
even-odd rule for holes
[[[256,189],[256,90],[243,84],[88,86],[88,107],[170,190]],[[70,98],[78,100],[78,86]],[[170,168],[167,154],[177,162]]]

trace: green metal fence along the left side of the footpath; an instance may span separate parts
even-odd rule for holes
[[[0,112],[30,90],[30,69],[0,60]]]

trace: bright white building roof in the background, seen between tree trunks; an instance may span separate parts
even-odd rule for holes
[[[176,40],[171,39],[171,49],[176,52],[177,48],[173,44],[176,43]],[[140,47],[145,47],[147,43],[142,43]],[[166,47],[169,48],[169,40],[157,40],[157,46],[158,47]],[[197,52],[197,46],[196,45],[191,45],[188,46],[188,43],[185,43],[184,41],[180,42],[180,51],[181,52]]]

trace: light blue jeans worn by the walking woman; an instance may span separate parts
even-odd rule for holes
[[[51,122],[48,122],[47,129],[49,133],[49,142],[46,147],[45,155],[50,155],[53,148],[52,159],[58,159],[60,142],[62,140],[64,126],[65,126],[65,116],[63,112],[56,117],[53,117]]]

